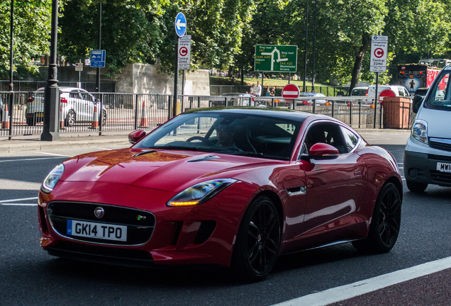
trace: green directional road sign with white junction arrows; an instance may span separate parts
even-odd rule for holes
[[[255,71],[296,72],[298,46],[255,45]]]

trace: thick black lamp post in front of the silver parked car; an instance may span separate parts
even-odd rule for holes
[[[53,141],[60,138],[58,132],[58,115],[60,89],[57,80],[57,30],[58,0],[52,0],[52,30],[50,35],[50,64],[44,98],[44,128],[40,140]]]

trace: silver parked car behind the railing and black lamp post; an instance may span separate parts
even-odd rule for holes
[[[79,122],[94,121],[94,112],[99,115],[99,123],[106,123],[106,111],[101,108],[101,103],[84,89],[76,87],[59,87],[60,89],[60,121],[64,120],[65,126],[73,126]],[[44,88],[34,91],[27,101],[26,122],[27,125],[36,125],[44,120]]]

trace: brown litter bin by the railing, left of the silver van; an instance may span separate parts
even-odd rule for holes
[[[404,97],[384,97],[383,101],[384,128],[410,128],[411,99]]]

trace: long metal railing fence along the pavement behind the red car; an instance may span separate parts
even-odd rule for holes
[[[44,93],[29,91],[0,92],[0,139],[15,136],[40,135],[43,132]],[[113,132],[137,129],[153,130],[172,118],[172,95],[93,93],[96,101],[71,100],[60,103],[58,125],[60,133]],[[33,99],[32,99],[33,98]],[[362,98],[360,98],[362,99]],[[321,97],[285,101],[282,97],[230,97],[180,95],[174,103],[175,113],[213,106],[258,106],[290,108],[307,113],[321,113],[337,118],[353,128],[411,127],[411,103],[390,102],[374,104],[358,97]],[[77,106],[78,102],[81,102]],[[69,109],[73,108],[73,109]],[[73,111],[73,113],[70,113]],[[70,120],[74,115],[74,120]]]

